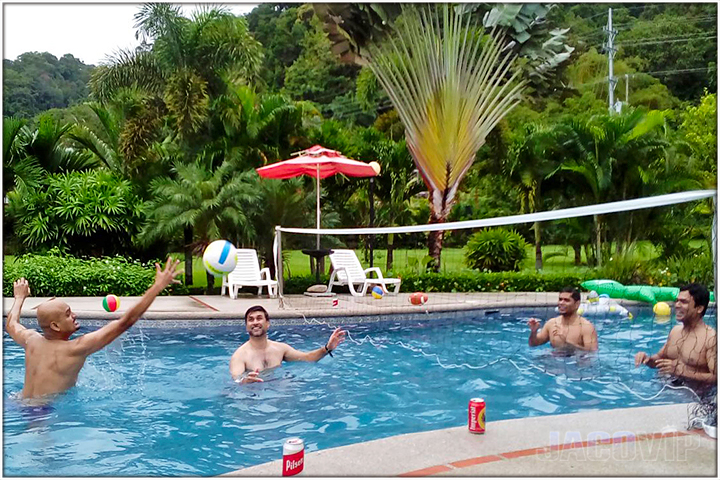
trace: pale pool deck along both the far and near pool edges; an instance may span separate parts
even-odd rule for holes
[[[330,298],[291,295],[285,308],[277,299],[199,295],[158,297],[143,324],[173,326],[231,325],[245,310],[263,305],[275,325],[304,323],[325,317],[354,321],[379,316],[413,318],[431,312],[478,309],[550,309],[557,293],[457,293],[430,295],[413,306],[408,294],[375,301],[338,295]],[[26,300],[22,317],[33,322],[37,306],[47,298]],[[107,313],[102,299],[64,298],[81,325],[118,318],[138,301],[121,299],[121,310]],[[12,298],[4,299],[7,314]],[[633,302],[623,302],[626,306]],[[337,317],[333,319],[332,317]],[[24,321],[24,323],[25,323]],[[306,454],[303,476],[717,476],[717,443],[701,430],[688,430],[687,405],[603,410],[489,422],[484,435],[465,427],[392,436]],[[278,452],[280,456],[280,452]],[[279,460],[228,475],[280,476]]]

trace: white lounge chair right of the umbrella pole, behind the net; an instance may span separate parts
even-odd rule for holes
[[[358,260],[353,250],[333,249],[333,253],[330,254],[330,262],[333,266],[333,273],[330,275],[328,292],[332,292],[334,285],[347,285],[350,293],[355,297],[364,296],[370,285],[379,285],[385,293],[391,293],[388,291],[387,285],[394,285],[393,295],[397,295],[400,291],[399,278],[383,278],[378,267],[363,270],[360,260]],[[377,278],[368,277],[368,273],[375,273]],[[356,290],[355,285],[358,284],[360,288]]]

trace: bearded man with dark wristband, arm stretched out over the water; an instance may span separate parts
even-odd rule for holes
[[[336,328],[328,342],[312,352],[301,352],[282,342],[268,340],[270,317],[260,305],[245,312],[245,329],[250,339],[243,343],[230,358],[230,375],[239,383],[262,382],[260,371],[286,362],[317,362],[330,354],[345,339],[344,330]],[[248,372],[245,374],[245,372]],[[245,375],[244,375],[245,374]]]

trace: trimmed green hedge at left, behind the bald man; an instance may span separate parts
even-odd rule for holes
[[[35,297],[92,297],[110,293],[140,296],[155,280],[154,262],[124,257],[83,259],[60,255],[28,254],[3,263],[3,295],[13,296],[13,282],[25,277]],[[185,285],[173,284],[161,295],[187,295]]]

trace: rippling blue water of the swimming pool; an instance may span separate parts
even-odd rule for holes
[[[656,352],[674,322],[598,320],[599,354],[563,358],[547,346],[527,346],[526,318],[348,321],[357,343],[346,341],[335,358],[286,363],[253,385],[234,384],[228,371],[230,355],[247,339],[242,325],[136,326],[91,356],[78,385],[51,411],[36,412],[14,399],[24,353],[6,334],[4,474],[217,475],[279,458],[288,437],[303,438],[314,451],[465,425],[476,396],[487,402],[488,421],[693,399],[665,390],[642,400],[617,383],[645,397],[661,390],[665,381],[635,369],[633,355]],[[271,326],[270,338],[310,350],[330,332],[323,325]],[[508,357],[516,366],[502,360]],[[474,367],[500,361],[444,369],[438,360]]]

